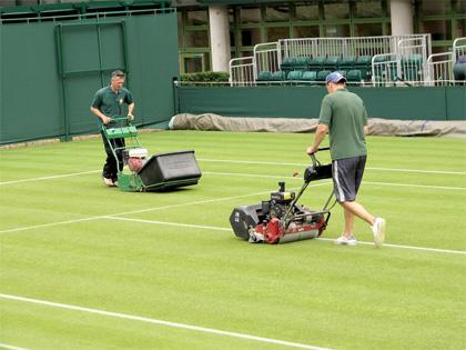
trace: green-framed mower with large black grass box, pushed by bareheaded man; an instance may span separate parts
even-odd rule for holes
[[[112,118],[102,132],[118,164],[118,187],[123,191],[143,192],[196,184],[201,178],[193,150],[158,153],[149,158],[141,147],[138,129],[126,117]],[[115,147],[111,140],[123,138],[125,144]],[[121,154],[123,162],[119,162]]]

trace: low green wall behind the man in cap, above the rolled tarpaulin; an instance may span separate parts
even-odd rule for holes
[[[372,118],[466,120],[465,87],[350,88]],[[318,118],[323,87],[181,87],[178,112],[225,117]]]

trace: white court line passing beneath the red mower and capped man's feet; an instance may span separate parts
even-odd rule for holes
[[[207,229],[207,230],[217,230],[217,231],[232,231],[231,228],[221,228],[221,227],[192,224],[192,223],[179,223],[179,222],[159,221],[159,220],[143,220],[143,219],[133,219],[133,218],[118,218],[118,217],[113,217],[113,216],[112,217],[107,217],[105,219],[121,220],[121,221],[132,221],[132,222],[140,222],[140,223],[151,223],[151,224],[176,226],[176,227],[185,227],[185,228],[194,228],[194,229]],[[334,241],[334,239],[331,239],[331,238],[316,238],[316,240],[331,241],[331,242]],[[364,244],[364,246],[374,246],[374,242],[357,241],[357,243],[358,244]],[[384,247],[399,248],[399,249],[412,249],[412,250],[422,250],[422,251],[433,251],[433,252],[442,252],[442,253],[450,253],[450,254],[466,254],[466,251],[462,251],[462,250],[425,248],[425,247],[415,247],[415,246],[401,246],[401,244],[388,244],[388,243],[384,243]]]

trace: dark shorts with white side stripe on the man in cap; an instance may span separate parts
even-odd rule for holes
[[[366,156],[332,161],[332,178],[338,203],[354,201],[363,180]]]

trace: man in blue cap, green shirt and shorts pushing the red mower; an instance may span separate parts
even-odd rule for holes
[[[373,217],[355,201],[367,157],[366,108],[357,94],[346,89],[346,79],[340,72],[327,76],[326,89],[328,94],[322,101],[314,143],[307,148],[307,153],[317,152],[322,140],[330,133],[334,192],[345,216],[345,229],[335,243],[356,246],[353,232],[356,216],[372,226],[374,243],[379,247],[385,239],[385,220]]]

